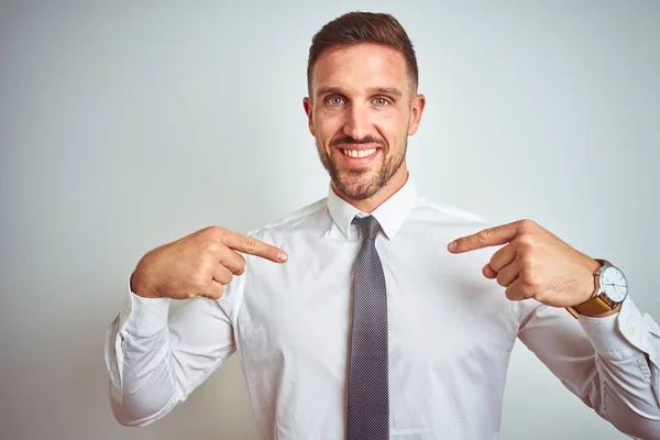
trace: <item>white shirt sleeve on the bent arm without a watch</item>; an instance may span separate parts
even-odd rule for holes
[[[188,299],[169,317],[169,298],[142,298],[129,287],[106,338],[110,403],[120,424],[165,417],[235,351],[230,314],[243,284],[244,275],[234,276],[219,300]]]

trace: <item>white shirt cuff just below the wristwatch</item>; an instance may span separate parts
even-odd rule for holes
[[[605,318],[581,315],[579,322],[596,352],[606,359],[623,360],[646,352],[642,336],[648,326],[629,297],[618,314]]]

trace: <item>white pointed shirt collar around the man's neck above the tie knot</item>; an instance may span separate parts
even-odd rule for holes
[[[408,179],[404,186],[371,213],[378,220],[387,239],[394,240],[404,221],[406,221],[417,197],[417,188],[415,187],[413,177],[408,175]],[[334,224],[337,224],[346,238],[350,238],[351,221],[353,221],[353,218],[355,216],[369,216],[369,213],[361,212],[358,208],[339,197],[334,193],[332,185],[330,185],[328,191],[328,210]]]

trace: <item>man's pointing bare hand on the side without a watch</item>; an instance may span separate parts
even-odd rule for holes
[[[131,290],[145,298],[218,299],[222,286],[245,271],[245,258],[237,251],[276,263],[288,258],[252,237],[210,227],[144,255],[131,276]]]

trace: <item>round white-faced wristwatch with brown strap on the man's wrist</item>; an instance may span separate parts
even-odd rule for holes
[[[566,307],[575,319],[580,315],[595,316],[614,310],[628,296],[628,280],[620,268],[607,260],[598,260],[601,268],[594,273],[596,289],[592,298],[576,306]]]

